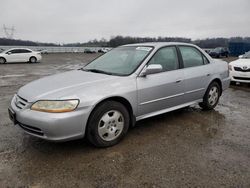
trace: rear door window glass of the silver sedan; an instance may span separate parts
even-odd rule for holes
[[[199,50],[189,46],[179,47],[184,68],[204,65],[203,57]]]

